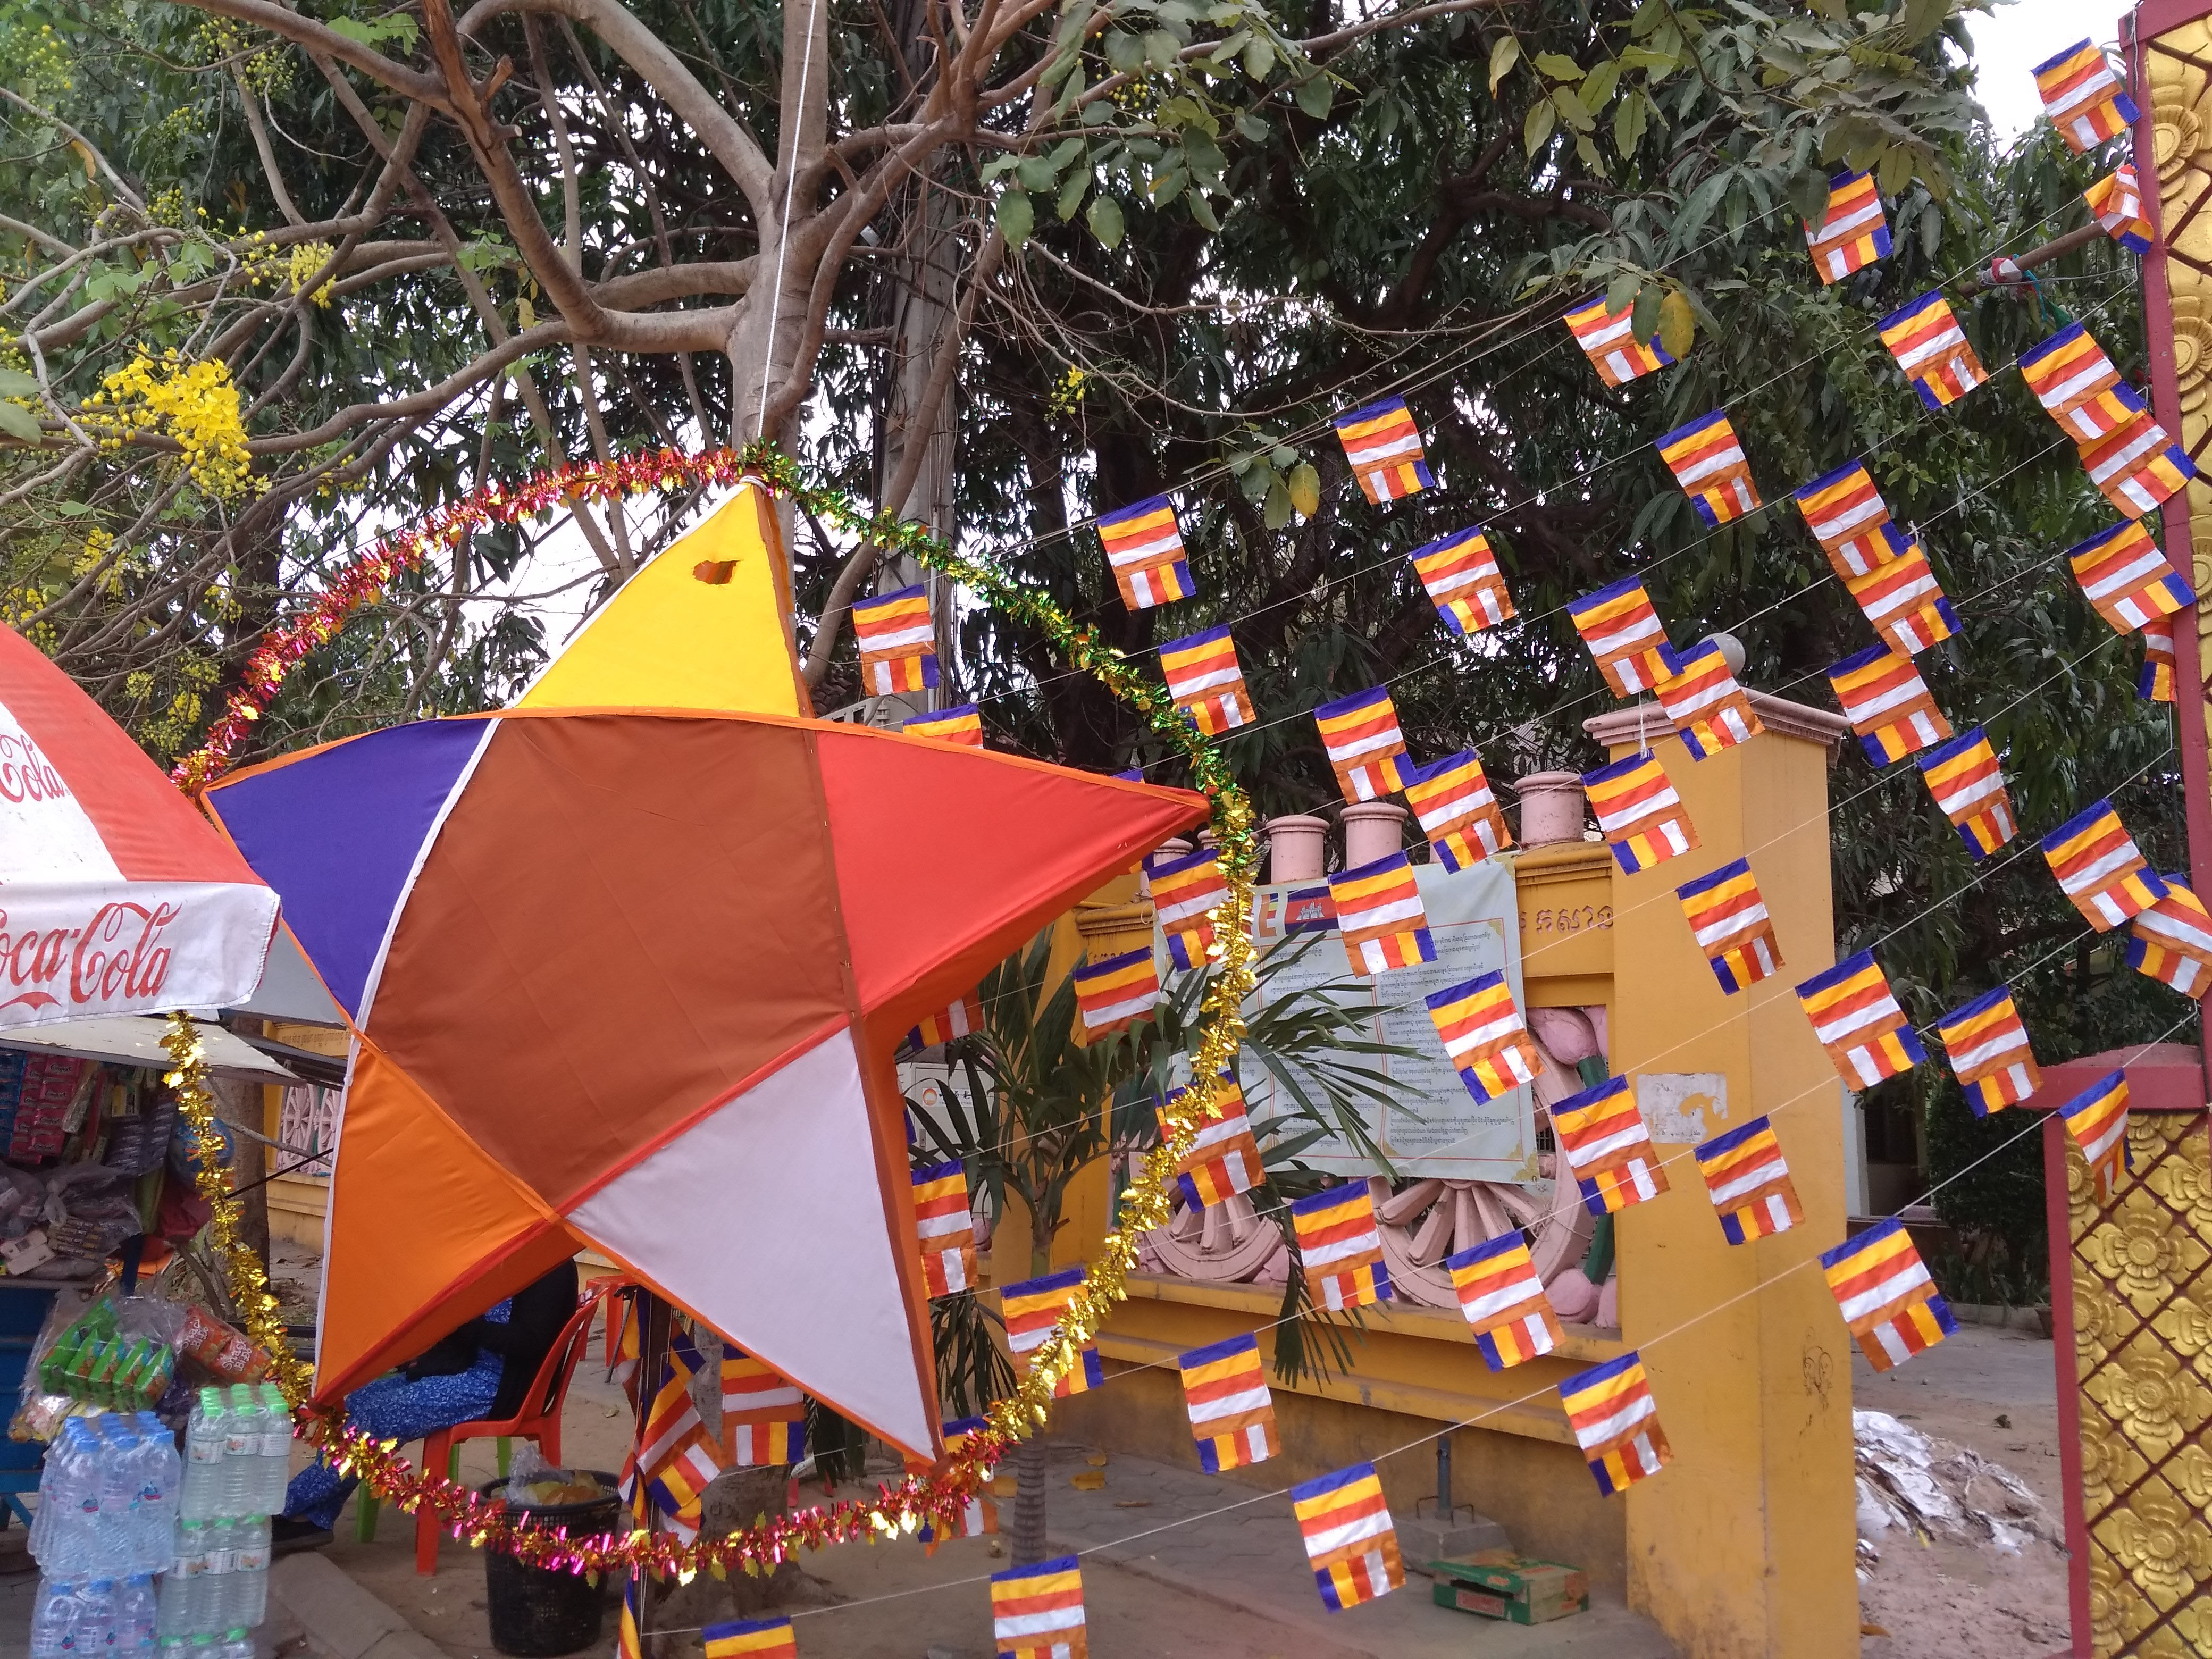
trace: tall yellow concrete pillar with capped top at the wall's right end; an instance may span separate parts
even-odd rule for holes
[[[1814,1261],[1845,1234],[1843,1097],[1792,987],[1836,960],[1827,765],[1845,726],[1752,701],[1765,734],[1705,761],[1650,706],[1586,723],[1613,759],[1657,750],[1703,843],[1613,876],[1613,1073],[1644,1079],[1652,1137],[1677,1159],[1672,1190],[1619,1221],[1621,1338],[1644,1354],[1674,1462],[1615,1502],[1628,1506],[1630,1604],[1681,1652],[1843,1659],[1858,1652],[1851,1360]],[[1674,887],[1743,856],[1785,967],[1723,995]],[[1652,1082],[1686,1073],[1708,1079]],[[1655,1113],[1666,1097],[1677,1110]],[[1730,1245],[1681,1137],[1759,1115],[1774,1121],[1805,1223]]]

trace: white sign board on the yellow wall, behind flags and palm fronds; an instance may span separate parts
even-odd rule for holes
[[[1398,1175],[1447,1177],[1455,1181],[1533,1181],[1535,1170],[1535,1124],[1526,1088],[1500,1095],[1491,1102],[1475,1102],[1451,1068],[1444,1055],[1444,1040],[1436,1035],[1425,998],[1453,984],[1464,984],[1482,973],[1504,969],[1506,984],[1513,987],[1513,1002],[1526,1009],[1522,998],[1520,969],[1520,909],[1513,896],[1513,872],[1484,858],[1471,869],[1451,874],[1440,865],[1416,865],[1420,902],[1429,911],[1429,933],[1436,940],[1436,960],[1411,969],[1391,969],[1376,980],[1365,980],[1367,991],[1354,993],[1356,1002],[1374,1009],[1369,1031],[1376,1042],[1411,1048],[1411,1057],[1349,1055],[1354,1064],[1365,1064],[1389,1075],[1391,1104],[1376,1108],[1365,1104],[1367,1133],[1389,1155]],[[1325,885],[1292,883],[1256,889],[1252,905],[1252,938],[1259,949],[1274,951],[1285,942],[1298,942],[1321,931],[1321,938],[1290,967],[1267,980],[1272,993],[1303,989],[1352,978],[1343,938],[1334,918],[1323,920],[1325,907],[1294,902],[1294,896],[1327,894]],[[1321,929],[1312,922],[1321,920]],[[1254,1126],[1290,1102],[1276,1104],[1276,1086],[1267,1073],[1245,1060],[1239,1066],[1245,1102]],[[1301,1161],[1334,1175],[1378,1172],[1345,1137],[1332,1137],[1301,1152]]]

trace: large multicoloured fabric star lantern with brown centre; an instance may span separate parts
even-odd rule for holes
[[[208,792],[356,1031],[319,1398],[591,1245],[883,1440],[936,1438],[891,1053],[1206,803],[717,708],[752,692],[666,670],[730,659],[686,630],[768,524],[741,495],[708,531],[734,544],[626,591],[668,599],[655,648],[617,597],[588,635],[619,661],[568,659],[544,699]],[[787,664],[765,615],[757,650]],[[622,706],[566,706],[564,679]]]

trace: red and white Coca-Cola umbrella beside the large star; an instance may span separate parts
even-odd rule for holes
[[[243,1002],[274,931],[276,894],[0,628],[0,1029]]]

